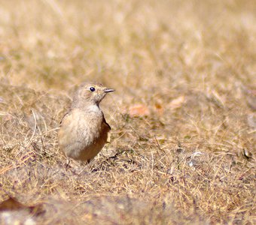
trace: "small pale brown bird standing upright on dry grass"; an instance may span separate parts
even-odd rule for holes
[[[83,83],[75,92],[58,133],[59,148],[66,156],[89,163],[103,148],[111,127],[105,121],[99,103],[109,92],[114,89],[99,83]]]

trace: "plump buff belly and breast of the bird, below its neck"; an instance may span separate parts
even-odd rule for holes
[[[59,148],[75,160],[90,161],[105,145],[109,127],[102,114],[95,119],[84,116],[74,112],[64,119],[59,129]]]

